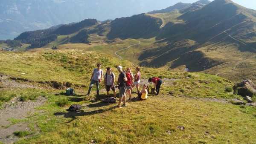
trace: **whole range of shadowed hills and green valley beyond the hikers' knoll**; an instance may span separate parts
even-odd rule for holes
[[[25,32],[18,39],[44,39],[54,34],[54,41],[36,43],[47,42],[43,48],[48,49],[57,46],[103,52],[141,66],[175,69],[185,65],[191,72],[221,75],[233,82],[244,78],[255,81],[256,11],[231,0],[208,3],[200,0],[180,11],[138,14],[105,22],[89,19]],[[56,33],[61,29],[68,33]]]

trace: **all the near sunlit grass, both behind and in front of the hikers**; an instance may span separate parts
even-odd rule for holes
[[[161,94],[149,95],[146,101],[132,101],[128,107],[116,109],[116,104],[104,104],[94,101],[94,95],[85,95],[90,72],[99,62],[103,69],[113,67],[115,74],[117,65],[131,67],[133,71],[136,66],[126,60],[78,49],[1,52],[1,75],[15,78],[17,85],[35,86],[17,89],[5,87],[0,82],[3,86],[1,104],[15,97],[24,101],[44,97],[47,102],[28,117],[9,119],[12,123],[2,125],[0,130],[16,124],[28,125],[26,132],[16,133],[29,137],[21,136],[17,144],[256,142],[255,108],[227,104],[231,98],[241,99],[227,90],[233,86],[227,79],[197,72],[142,67],[143,83],[152,76],[163,78]],[[77,95],[65,96],[65,86],[53,89],[49,83],[40,83],[42,81],[69,82]],[[102,85],[101,89],[100,98],[105,98]],[[65,109],[70,104],[83,107],[79,112],[67,112]]]

